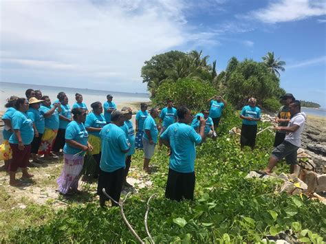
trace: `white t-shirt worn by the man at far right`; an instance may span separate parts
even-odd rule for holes
[[[305,126],[305,119],[307,115],[305,113],[296,113],[287,124],[287,127],[293,126],[294,124],[299,126],[299,128],[293,133],[286,133],[285,141],[294,144],[294,146],[301,146],[301,133],[303,131],[303,127]]]

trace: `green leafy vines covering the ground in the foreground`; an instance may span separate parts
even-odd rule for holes
[[[149,243],[144,228],[147,199],[151,201],[149,231],[155,243],[259,243],[265,236],[292,236],[300,242],[323,243],[326,239],[326,206],[304,195],[275,192],[281,181],[245,179],[250,170],[261,169],[272,148],[269,131],[257,137],[257,149],[239,150],[239,140],[227,131],[241,122],[233,113],[224,118],[216,142],[197,147],[194,201],[164,198],[169,158],[166,148],[156,150],[149,177],[153,185],[142,188],[124,203],[124,213]],[[265,128],[269,124],[261,123]],[[133,156],[133,166],[141,170],[142,152]],[[287,173],[287,166],[276,172]],[[28,206],[26,211],[35,206]],[[42,207],[42,211],[45,211]],[[50,208],[50,207],[48,207]],[[52,212],[51,210],[49,210]],[[38,214],[40,211],[36,211]],[[46,211],[45,211],[46,212]],[[48,214],[48,213],[47,213]],[[74,204],[50,214],[42,225],[29,223],[15,228],[3,241],[14,243],[136,243],[124,225],[118,208],[101,209],[94,201]]]

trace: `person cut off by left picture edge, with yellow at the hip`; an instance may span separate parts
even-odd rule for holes
[[[5,107],[7,108],[6,113],[4,113],[2,115],[2,120],[3,123],[5,124],[5,126],[3,127],[2,130],[2,135],[3,135],[3,152],[2,152],[2,159],[5,162],[5,165],[0,167],[0,170],[8,170],[10,161],[12,159],[12,150],[10,148],[10,144],[9,144],[9,138],[10,135],[12,135],[13,133],[13,129],[12,129],[12,124],[11,124],[11,120],[12,120],[12,115],[14,114],[14,112],[16,112],[16,109],[14,108],[14,104],[16,103],[18,97],[17,96],[11,96],[10,98],[8,98],[8,102],[6,103]]]

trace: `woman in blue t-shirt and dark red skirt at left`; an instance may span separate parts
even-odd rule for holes
[[[30,143],[34,137],[33,122],[28,118],[28,100],[18,98],[14,107],[17,109],[12,115],[12,129],[14,133],[10,135],[9,143],[12,148],[12,162],[9,165],[10,186],[21,185],[16,180],[16,171],[21,168],[23,178],[30,178],[33,175],[28,173],[28,164],[30,159]]]

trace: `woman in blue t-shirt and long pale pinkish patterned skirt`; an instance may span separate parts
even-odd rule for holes
[[[84,164],[86,151],[93,147],[88,142],[88,133],[84,123],[86,111],[84,109],[72,109],[74,121],[70,122],[65,130],[65,146],[63,156],[65,165],[63,172],[56,181],[58,191],[63,195],[71,195],[80,192],[78,190],[78,179]]]

